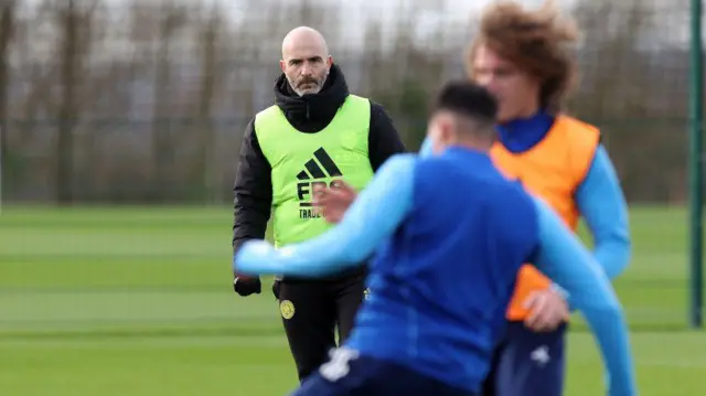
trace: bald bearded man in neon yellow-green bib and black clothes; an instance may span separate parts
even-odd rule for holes
[[[389,157],[405,151],[385,110],[350,94],[321,33],[307,26],[289,32],[280,66],[275,105],[250,120],[240,146],[234,254],[246,240],[263,239],[270,217],[276,246],[322,234],[330,224],[314,206],[317,188],[345,181],[362,190]],[[336,327],[339,343],[347,338],[365,293],[364,268],[272,285],[300,379],[328,360]],[[234,289],[259,293],[260,279],[236,274]]]

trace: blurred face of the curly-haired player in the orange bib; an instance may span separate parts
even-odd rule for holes
[[[475,51],[472,67],[473,81],[498,99],[500,122],[528,117],[537,111],[539,84],[531,75],[484,45]]]

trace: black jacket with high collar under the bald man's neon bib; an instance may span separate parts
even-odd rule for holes
[[[349,96],[341,69],[333,65],[321,92],[299,96],[285,75],[275,84],[276,104],[297,130],[315,133],[325,128]],[[393,154],[404,152],[392,119],[381,105],[371,101],[368,154],[374,171]],[[255,135],[255,119],[245,129],[235,178],[233,249],[247,239],[265,237],[272,204],[271,167],[263,154]]]

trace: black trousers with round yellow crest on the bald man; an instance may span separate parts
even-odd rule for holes
[[[329,351],[336,347],[336,329],[339,345],[351,333],[365,295],[365,272],[356,268],[329,279],[286,278],[276,290],[297,374],[303,381],[328,362]]]

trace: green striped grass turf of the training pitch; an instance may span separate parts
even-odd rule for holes
[[[231,287],[231,211],[4,206],[0,395],[284,396],[296,385],[278,309]],[[643,396],[706,388],[706,333],[686,322],[686,217],[632,212],[618,281]],[[602,395],[590,334],[570,335],[568,396]]]

